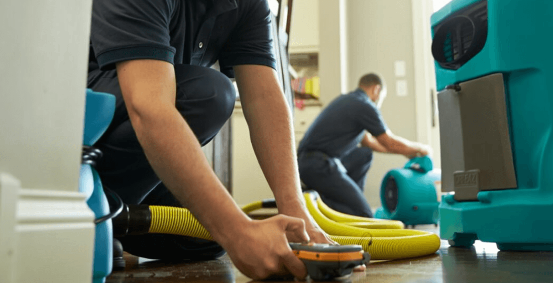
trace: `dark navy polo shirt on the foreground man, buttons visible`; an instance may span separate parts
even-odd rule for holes
[[[131,59],[275,69],[266,0],[93,0],[88,72]]]

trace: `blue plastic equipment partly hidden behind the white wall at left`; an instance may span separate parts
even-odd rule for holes
[[[86,90],[86,110],[83,144],[93,145],[106,131],[113,119],[115,97],[111,94]],[[96,170],[81,164],[79,191],[86,194],[88,207],[96,218],[109,214],[109,204]],[[96,225],[93,283],[103,283],[112,271],[113,228],[111,219]]]

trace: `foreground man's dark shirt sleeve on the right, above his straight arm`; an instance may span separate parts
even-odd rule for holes
[[[250,1],[221,50],[219,63],[223,73],[233,77],[233,66],[248,64],[276,69],[271,21],[266,0]]]

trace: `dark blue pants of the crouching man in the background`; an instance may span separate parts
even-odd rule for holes
[[[307,189],[317,191],[330,208],[351,215],[373,217],[363,194],[372,159],[373,152],[367,147],[358,147],[342,158],[329,157],[319,151],[300,152],[300,178]]]

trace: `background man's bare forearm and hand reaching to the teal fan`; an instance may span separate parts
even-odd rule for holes
[[[376,137],[380,145],[384,146],[390,153],[398,153],[408,158],[426,156],[430,153],[430,147],[422,143],[412,142],[406,138],[396,136],[388,130]]]

